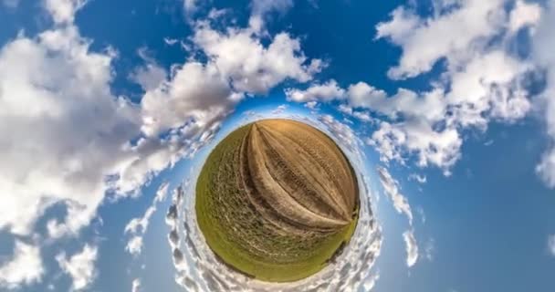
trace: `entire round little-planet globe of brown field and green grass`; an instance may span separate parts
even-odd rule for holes
[[[335,142],[293,120],[261,120],[215,147],[196,185],[207,244],[225,263],[260,280],[318,272],[349,241],[358,186]]]

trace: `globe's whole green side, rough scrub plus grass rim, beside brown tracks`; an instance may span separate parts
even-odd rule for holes
[[[298,232],[296,226],[284,224],[281,228],[268,221],[241,183],[245,179],[241,160],[252,156],[244,152],[252,128],[249,124],[232,132],[205,162],[196,184],[199,227],[215,254],[247,276],[271,282],[311,276],[327,266],[338,248],[351,239],[358,202],[348,224],[335,229],[312,230],[309,226]]]

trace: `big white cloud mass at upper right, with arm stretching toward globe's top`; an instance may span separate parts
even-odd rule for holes
[[[389,76],[414,78],[438,66],[443,72],[431,81],[431,89],[398,89],[388,95],[366,82],[342,89],[330,80],[324,86],[286,92],[298,102],[339,100],[341,112],[377,123],[367,142],[383,162],[404,163],[414,156],[417,165],[436,166],[449,174],[461,157],[462,130],[487,130],[490,120],[515,122],[531,110],[527,86],[535,67],[511,47],[518,31],[532,36],[540,30],[539,12],[539,5],[508,5],[504,0],[436,1],[431,16],[401,6],[376,26],[377,39],[402,48]],[[550,168],[552,157],[546,154],[539,172]]]

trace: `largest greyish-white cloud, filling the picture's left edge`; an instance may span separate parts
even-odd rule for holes
[[[74,26],[0,50],[0,228],[28,235],[54,203],[71,220],[52,230],[77,232],[95,214],[121,162],[114,157],[140,132],[138,112],[110,94],[112,57],[89,52]]]

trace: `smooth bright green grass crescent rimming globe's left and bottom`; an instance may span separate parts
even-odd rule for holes
[[[271,259],[254,258],[239,246],[225,240],[229,233],[222,230],[222,224],[218,222],[218,216],[213,214],[214,209],[211,208],[215,204],[213,193],[216,190],[211,183],[210,175],[220,167],[225,153],[235,147],[236,142],[243,138],[250,127],[249,124],[233,131],[208,156],[196,184],[195,211],[199,228],[215,255],[227,266],[247,276],[269,282],[292,282],[312,276],[327,266],[340,247],[350,241],[358,222],[358,210],[356,211],[357,217],[352,220],[351,224],[346,225],[336,234],[330,235],[318,246],[317,250],[313,251],[312,256],[300,262],[278,264],[272,263]],[[234,192],[232,185],[225,190]]]

